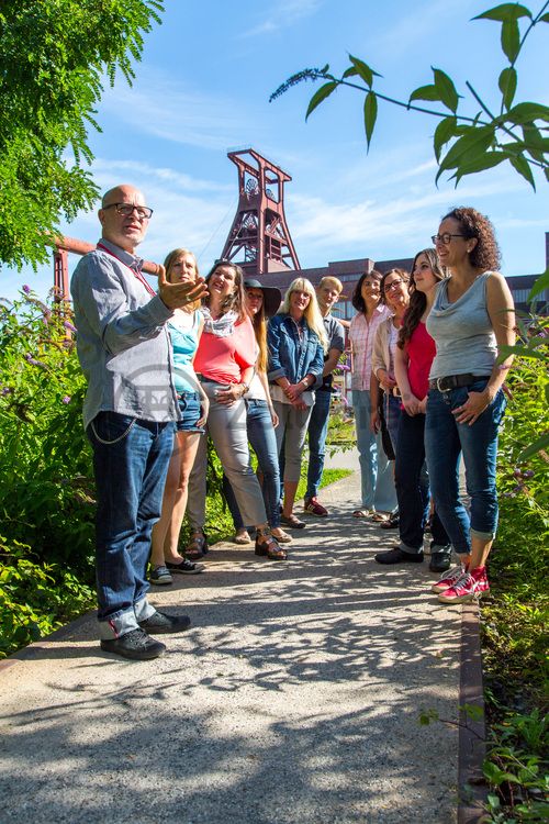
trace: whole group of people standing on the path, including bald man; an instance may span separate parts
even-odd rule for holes
[[[147,565],[155,584],[203,568],[197,561],[209,549],[206,433],[223,467],[237,543],[251,543],[254,528],[256,555],[288,557],[287,530],[305,526],[294,504],[307,434],[304,510],[328,514],[318,487],[332,372],[345,349],[344,329],[330,314],[343,288],[336,278],[316,290],[298,278],[282,300],[229,260],[215,261],[204,279],[194,255],[177,248],[154,290],[136,255],[152,214],[133,186],[108,191],[101,240],[71,281],[97,485],[101,647],[135,659],[165,652],[154,635],[190,625],[187,615],[149,604]],[[377,560],[422,560],[430,485],[432,568],[448,570],[451,546],[460,557],[435,584],[446,601],[488,589],[497,516],[495,448],[509,360],[500,365],[496,356],[512,342],[514,322],[490,232],[474,210],[455,210],[434,238],[436,249],[416,256],[410,282],[400,269],[368,272],[352,298],[362,492],[354,514],[383,519],[397,500],[399,548]],[[461,453],[470,515],[459,499]],[[192,535],[181,553],[186,512]]]

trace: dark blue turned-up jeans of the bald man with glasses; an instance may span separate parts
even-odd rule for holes
[[[97,489],[96,571],[101,638],[149,617],[145,577],[160,517],[175,424],[100,412],[88,426]]]

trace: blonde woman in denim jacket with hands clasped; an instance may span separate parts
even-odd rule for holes
[[[301,472],[301,454],[314,403],[315,385],[322,383],[326,331],[313,285],[296,278],[284,296],[278,314],[267,329],[269,346],[268,378],[274,412],[280,455],[284,443],[284,504],[281,522],[285,526],[305,526],[293,514]]]

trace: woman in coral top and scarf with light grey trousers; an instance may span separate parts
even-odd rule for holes
[[[208,431],[243,520],[256,527],[256,555],[285,560],[287,552],[272,537],[267,523],[261,489],[249,459],[244,396],[255,375],[257,344],[246,312],[243,270],[228,260],[217,260],[206,278],[206,286],[209,294],[202,305],[204,329],[194,368],[210,400]],[[208,552],[203,532],[205,475],[206,447],[202,444],[191,475],[189,520],[193,536],[186,550],[191,559]]]

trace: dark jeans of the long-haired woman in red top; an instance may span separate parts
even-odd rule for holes
[[[425,415],[401,411],[394,480],[399,499],[401,549],[410,555],[423,550],[425,524],[429,514],[429,480],[425,472]],[[432,523],[433,545],[449,544],[448,535],[435,511]]]

